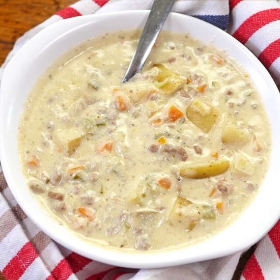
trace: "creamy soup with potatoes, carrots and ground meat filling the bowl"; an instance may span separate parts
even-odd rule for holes
[[[88,40],[41,75],[19,156],[27,186],[71,231],[147,251],[236,219],[265,177],[271,137],[248,74],[188,35],[162,32],[142,73],[122,84],[139,34]]]

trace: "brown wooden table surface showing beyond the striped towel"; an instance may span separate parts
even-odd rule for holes
[[[75,2],[75,0],[0,0],[0,65],[21,35]],[[253,249],[241,257],[233,280],[239,280],[251,254]]]

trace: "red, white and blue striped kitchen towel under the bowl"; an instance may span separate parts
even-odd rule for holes
[[[52,22],[121,10],[150,9],[152,0],[81,0],[27,32],[14,53]],[[276,0],[177,0],[174,11],[228,30],[247,46],[280,86],[280,3]],[[1,170],[0,170],[1,171]],[[26,217],[0,172],[0,271],[7,279],[231,279],[241,253],[164,269],[128,269],[98,263],[53,242]],[[258,243],[241,279],[280,279],[280,222]],[[0,273],[1,277],[1,273]]]

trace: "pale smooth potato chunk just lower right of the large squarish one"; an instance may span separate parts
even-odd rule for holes
[[[222,129],[221,140],[225,144],[243,146],[249,142],[249,137],[243,129],[228,122]]]

